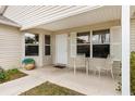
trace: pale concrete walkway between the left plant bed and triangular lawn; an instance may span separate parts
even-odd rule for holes
[[[0,96],[17,96],[35,86],[46,81],[46,78],[29,75],[12,81],[0,84]]]

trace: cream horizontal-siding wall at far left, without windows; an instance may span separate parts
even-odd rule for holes
[[[19,28],[0,24],[0,66],[4,70],[21,66],[21,38]]]

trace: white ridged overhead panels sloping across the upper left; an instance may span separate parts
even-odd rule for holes
[[[28,29],[97,8],[100,5],[9,5],[3,15]]]

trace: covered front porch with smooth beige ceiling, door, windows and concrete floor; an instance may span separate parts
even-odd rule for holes
[[[85,94],[121,94],[115,90],[121,81],[121,7],[98,7],[25,28],[22,35],[22,59],[33,58],[37,66],[28,74],[47,76],[52,83]],[[79,55],[84,58],[79,60]],[[109,72],[100,73],[108,58],[112,61]]]

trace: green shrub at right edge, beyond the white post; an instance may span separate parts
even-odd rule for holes
[[[135,52],[131,53],[131,93],[135,94]]]

